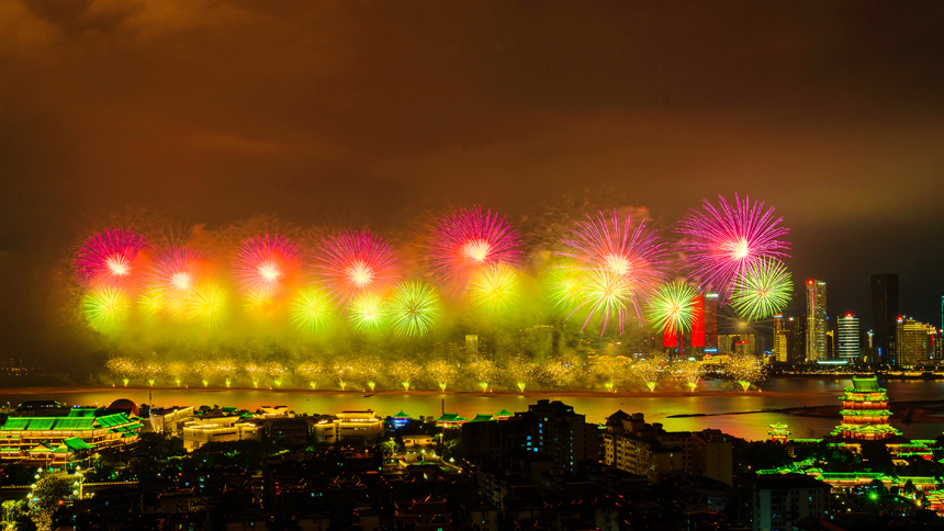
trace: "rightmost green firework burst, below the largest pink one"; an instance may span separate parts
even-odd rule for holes
[[[783,312],[793,291],[787,268],[777,260],[761,259],[738,278],[731,305],[744,319],[766,319]]]

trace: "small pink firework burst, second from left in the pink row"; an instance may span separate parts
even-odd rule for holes
[[[187,247],[167,248],[150,266],[148,287],[161,308],[180,313],[203,276],[204,268],[202,252]]]

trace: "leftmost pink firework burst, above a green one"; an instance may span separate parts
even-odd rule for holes
[[[132,291],[146,261],[147,238],[111,227],[87,239],[74,260],[76,280],[86,289],[111,287]]]

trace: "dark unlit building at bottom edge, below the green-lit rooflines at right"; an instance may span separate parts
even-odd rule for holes
[[[802,520],[829,518],[832,487],[806,474],[735,478],[738,521],[751,531],[798,529]]]

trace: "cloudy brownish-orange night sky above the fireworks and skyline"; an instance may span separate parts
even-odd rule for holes
[[[776,206],[793,269],[940,326],[944,2],[0,2],[0,355],[50,360],[77,227],[138,206],[384,234],[610,194]],[[802,303],[802,300],[798,301]]]

